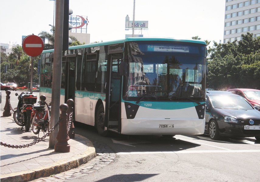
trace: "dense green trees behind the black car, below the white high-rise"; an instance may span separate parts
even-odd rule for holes
[[[260,88],[260,41],[253,34],[226,44],[213,41],[208,59],[207,87]]]

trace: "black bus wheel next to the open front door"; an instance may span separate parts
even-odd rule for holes
[[[96,128],[100,136],[107,136],[107,130],[105,130],[105,110],[103,105],[99,105],[96,115]]]

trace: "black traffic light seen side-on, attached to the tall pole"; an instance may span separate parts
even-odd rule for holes
[[[72,13],[72,9],[69,8],[69,0],[64,0],[62,50],[68,50],[69,45],[72,43],[69,38],[69,30],[72,29],[72,25],[69,23],[69,15]]]

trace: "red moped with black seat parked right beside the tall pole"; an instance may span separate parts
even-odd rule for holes
[[[40,96],[39,106],[34,106],[31,114],[32,130],[34,134],[39,134],[40,130],[49,132],[50,125],[50,103],[46,101],[46,96]]]

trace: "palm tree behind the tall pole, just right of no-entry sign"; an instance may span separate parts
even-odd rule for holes
[[[47,31],[42,31],[38,34],[38,36],[41,39],[48,40],[48,43],[44,44],[44,50],[54,49],[55,26],[51,26],[50,31],[52,33],[49,33]],[[69,38],[71,38],[72,42],[77,41],[77,38],[75,36],[69,36]]]

